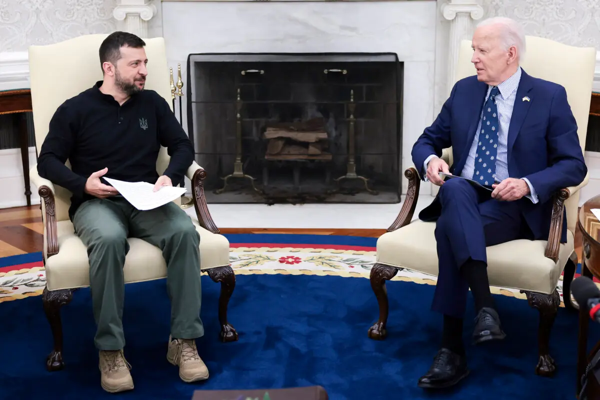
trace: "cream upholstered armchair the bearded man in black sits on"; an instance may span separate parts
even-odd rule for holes
[[[50,119],[58,106],[102,80],[98,49],[107,35],[84,35],[48,46],[29,47],[29,71],[38,152],[46,137]],[[146,89],[152,89],[171,104],[170,75],[163,38],[146,41],[148,77]],[[161,148],[157,172],[164,172],[169,155]],[[67,161],[67,166],[69,166]],[[49,371],[64,366],[62,360],[61,306],[70,302],[73,290],[89,286],[89,263],[85,245],[74,234],[68,217],[71,193],[38,175],[37,166],[29,172],[40,193],[44,224],[44,266],[46,288],[44,311],[52,329],[54,348],[46,360]],[[229,265],[229,241],[220,234],[206,206],[203,180],[206,172],[195,162],[187,171],[193,189],[197,219],[192,218],[200,233],[200,269],[215,282],[221,282],[219,322],[221,341],[238,339],[238,333],[227,322],[227,305],[235,287],[235,275]],[[178,201],[176,201],[178,202]],[[141,240],[128,239],[130,251],[125,258],[125,283],[166,278],[167,267],[158,247]]]

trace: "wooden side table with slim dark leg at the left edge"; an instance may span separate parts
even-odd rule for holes
[[[14,124],[19,134],[21,161],[23,163],[23,179],[25,180],[25,196],[27,205],[31,206],[31,188],[29,185],[29,134],[23,113],[32,112],[31,91],[15,89],[0,91],[0,114],[13,114]]]

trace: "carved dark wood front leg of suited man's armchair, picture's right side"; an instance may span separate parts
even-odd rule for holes
[[[521,290],[525,293],[529,305],[539,311],[539,330],[538,330],[538,365],[535,367],[535,373],[542,377],[551,377],[556,371],[556,363],[550,356],[550,331],[554,324],[554,318],[559,310],[560,296],[554,289],[551,294],[535,293],[532,291]]]

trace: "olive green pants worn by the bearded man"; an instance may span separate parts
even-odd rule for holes
[[[200,235],[177,204],[171,202],[140,211],[120,196],[93,199],[77,209],[73,225],[88,248],[92,308],[97,324],[94,343],[98,350],[119,350],[125,346],[123,266],[129,251],[128,237],[143,239],[163,252],[173,338],[204,335],[200,319]]]

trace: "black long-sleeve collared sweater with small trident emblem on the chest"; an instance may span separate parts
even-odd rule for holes
[[[71,219],[84,201],[94,199],[84,188],[96,171],[106,167],[106,178],[154,184],[164,146],[171,157],[164,175],[177,185],[194,160],[190,139],[157,92],[143,90],[119,106],[100,91],[101,85],[97,82],[58,107],[38,156],[40,176],[73,194]]]

